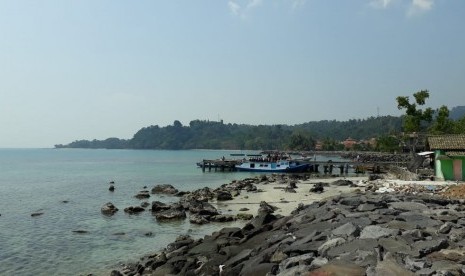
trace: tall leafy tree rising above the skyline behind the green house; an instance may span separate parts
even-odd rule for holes
[[[429,98],[428,90],[421,90],[413,94],[415,103],[410,103],[408,97],[399,96],[397,100],[397,108],[405,109],[404,131],[405,132],[420,132],[423,130],[422,122],[430,123],[433,119],[433,109],[430,107],[425,110],[418,109],[417,105],[424,105],[426,99]]]

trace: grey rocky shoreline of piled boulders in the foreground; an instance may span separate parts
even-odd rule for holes
[[[213,194],[253,190],[253,181],[223,185]],[[286,181],[292,189],[297,180]],[[289,216],[263,201],[242,228],[197,240],[179,236],[164,250],[110,274],[464,275],[465,201],[441,196],[444,186],[342,181],[330,185],[354,190],[301,203]],[[314,192],[323,192],[325,186],[317,184]],[[197,202],[198,195],[194,198]],[[207,221],[214,217],[190,212]]]

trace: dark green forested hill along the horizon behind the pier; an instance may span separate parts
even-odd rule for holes
[[[300,125],[245,125],[194,120],[140,129],[132,139],[79,140],[56,148],[106,149],[311,149],[317,140],[370,139],[401,131],[400,117],[318,121]]]

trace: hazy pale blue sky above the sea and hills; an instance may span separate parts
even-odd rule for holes
[[[0,148],[465,105],[462,0],[0,0]],[[413,99],[412,99],[413,101]]]

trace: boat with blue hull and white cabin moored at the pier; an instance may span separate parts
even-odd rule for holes
[[[298,173],[308,171],[309,164],[302,164],[289,160],[279,160],[275,162],[245,161],[236,165],[235,168],[237,171],[245,172]]]

